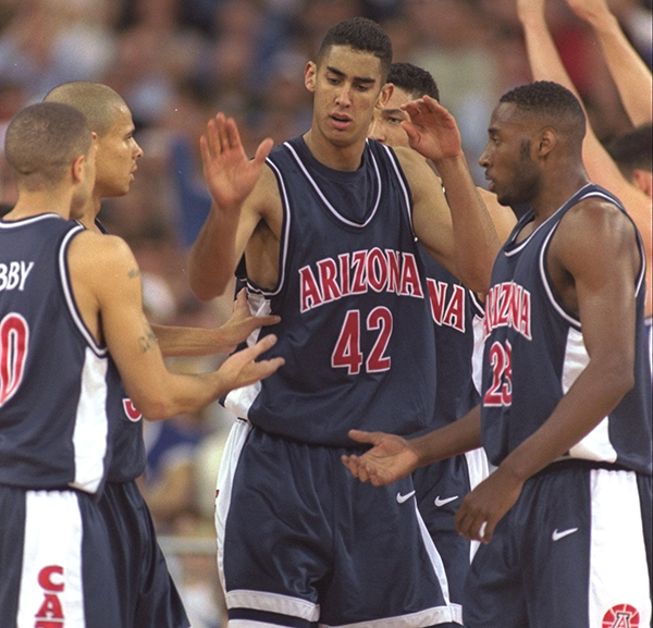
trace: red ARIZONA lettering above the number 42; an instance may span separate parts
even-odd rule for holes
[[[373,291],[424,298],[415,256],[378,247],[324,258],[299,269],[300,311]]]

